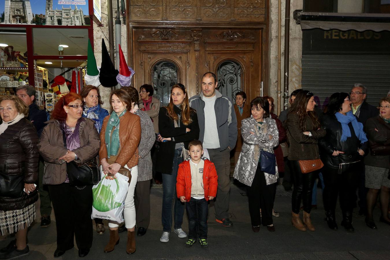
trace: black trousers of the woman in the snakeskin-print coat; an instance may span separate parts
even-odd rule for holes
[[[252,226],[263,226],[273,224],[272,209],[275,198],[276,183],[267,185],[264,172],[261,171],[260,163],[257,164],[257,170],[252,182],[248,186],[249,213]],[[260,217],[260,209],[262,217]]]

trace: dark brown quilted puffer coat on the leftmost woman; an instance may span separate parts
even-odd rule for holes
[[[33,124],[21,119],[8,126],[0,135],[0,171],[5,175],[24,175],[24,183],[33,184],[38,179],[38,135]],[[38,200],[38,193],[23,194],[19,198],[0,196],[0,210],[23,209]]]

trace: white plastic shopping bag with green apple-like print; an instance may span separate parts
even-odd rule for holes
[[[92,187],[92,219],[101,218],[122,223],[124,200],[129,189],[129,178],[117,173],[116,179],[108,180],[101,170],[101,181]]]

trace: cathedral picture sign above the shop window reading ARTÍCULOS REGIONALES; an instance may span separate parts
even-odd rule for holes
[[[89,1],[94,2],[94,0],[0,0],[0,23],[90,25]],[[96,7],[96,4],[94,6]]]

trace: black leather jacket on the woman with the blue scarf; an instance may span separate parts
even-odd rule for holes
[[[363,156],[360,156],[358,149],[362,149],[364,153],[367,154],[368,142],[360,143],[352,123],[348,124],[351,131],[351,137],[348,137],[345,142],[340,141],[342,127],[335,115],[324,115],[321,119],[321,125],[326,130],[326,135],[319,140],[321,159],[324,164],[333,168],[339,168],[340,163],[351,163],[363,160]],[[333,156],[334,150],[342,151],[344,154]]]

